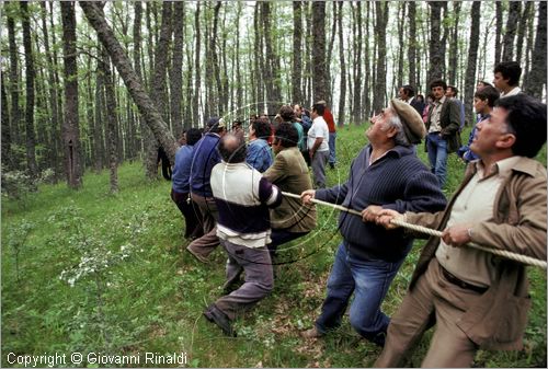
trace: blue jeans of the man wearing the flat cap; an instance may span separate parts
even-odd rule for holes
[[[367,339],[386,332],[390,319],[380,311],[380,305],[402,263],[403,260],[397,263],[358,260],[346,250],[343,241],[329,275],[328,296],[316,320],[317,330],[326,333],[338,327],[354,292],[350,307],[350,323],[354,330]]]

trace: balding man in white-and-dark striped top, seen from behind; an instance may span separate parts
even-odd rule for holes
[[[270,293],[274,286],[269,208],[282,204],[281,191],[246,163],[246,143],[235,135],[221,138],[222,161],[212,171],[212,191],[219,219],[217,235],[228,253],[227,282],[233,285],[243,269],[246,282],[212,303],[204,316],[225,334],[236,336],[231,321]]]

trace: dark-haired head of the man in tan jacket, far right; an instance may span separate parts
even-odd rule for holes
[[[480,157],[505,152],[534,158],[546,142],[546,104],[518,94],[499,99],[489,119],[476,125],[470,149]]]

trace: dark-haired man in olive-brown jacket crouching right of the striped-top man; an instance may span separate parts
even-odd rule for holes
[[[297,147],[298,132],[290,123],[279,124],[272,149],[274,163],[263,173],[263,176],[278,186],[279,189],[300,194],[312,188],[308,165]],[[271,209],[272,253],[283,243],[308,234],[316,228],[316,208],[313,205],[302,205],[299,198],[284,196],[282,205]]]

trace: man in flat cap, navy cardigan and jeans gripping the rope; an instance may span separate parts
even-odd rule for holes
[[[413,152],[412,145],[426,134],[419,113],[392,100],[370,123],[365,132],[369,143],[352,162],[346,183],[301,194],[305,204],[317,198],[362,212],[362,217],[349,212],[339,217],[343,240],[328,279],[321,315],[312,328],[302,332],[306,338],[336,328],[354,293],[351,325],[383,346],[389,318],[380,305],[413,240],[403,231],[392,233],[377,226],[376,217],[383,209],[436,212],[446,204],[435,175]]]

